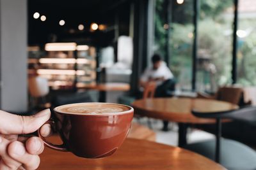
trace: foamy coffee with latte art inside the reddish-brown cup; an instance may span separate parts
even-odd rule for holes
[[[118,104],[86,103],[86,104],[67,104],[56,108],[56,111],[62,113],[83,113],[83,114],[101,114],[101,113],[120,113],[130,110],[127,106]]]

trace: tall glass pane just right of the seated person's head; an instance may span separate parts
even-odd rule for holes
[[[171,1],[170,68],[178,90],[191,90],[193,50],[193,0]]]

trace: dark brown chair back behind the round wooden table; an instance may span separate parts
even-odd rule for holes
[[[220,89],[218,89],[213,96],[200,92],[198,93],[198,98],[216,99],[219,101],[227,101],[229,103],[241,105],[243,89],[240,87],[220,87]]]

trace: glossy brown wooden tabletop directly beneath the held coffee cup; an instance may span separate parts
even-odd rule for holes
[[[49,148],[45,148],[40,158],[38,169],[42,170],[225,169],[210,159],[182,148],[129,138],[116,153],[103,159],[83,159],[69,152],[58,152]]]

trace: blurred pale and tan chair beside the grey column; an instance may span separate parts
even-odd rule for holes
[[[36,108],[49,108],[50,103],[46,102],[46,96],[49,94],[48,80],[40,76],[33,76],[28,79],[28,89],[31,97],[35,99],[33,107]],[[33,108],[32,107],[32,108]]]

